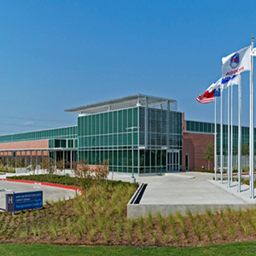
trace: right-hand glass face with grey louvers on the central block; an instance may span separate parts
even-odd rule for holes
[[[148,108],[148,147],[145,135],[145,110],[139,108],[139,172],[140,174],[166,172],[167,110]],[[182,150],[182,113],[170,111],[170,149]],[[180,153],[180,155],[182,155]],[[179,165],[182,165],[181,158]]]

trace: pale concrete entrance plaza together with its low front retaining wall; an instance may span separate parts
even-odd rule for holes
[[[128,205],[128,218],[147,217],[148,212],[163,216],[176,211],[186,214],[191,212],[203,213],[206,208],[212,211],[225,210],[230,207],[234,210],[253,208],[256,199],[250,199],[249,186],[242,184],[241,193],[237,193],[237,183],[213,180],[213,174],[201,172],[176,172],[164,176],[136,177],[139,183],[148,183],[139,204]],[[112,177],[109,176],[109,179]],[[113,174],[114,180],[131,182],[131,175]]]

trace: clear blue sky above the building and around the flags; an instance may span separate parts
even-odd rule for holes
[[[195,98],[219,79],[223,56],[251,44],[254,5],[0,1],[0,135],[75,125],[64,109],[137,93],[176,99],[185,119],[213,122],[213,103]],[[237,88],[235,123],[236,98]]]

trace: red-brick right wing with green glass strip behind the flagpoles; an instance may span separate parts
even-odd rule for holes
[[[231,130],[231,129],[230,129]],[[223,159],[224,166],[228,166],[228,125],[223,126]],[[231,131],[230,131],[231,132]],[[254,128],[254,148],[256,141],[256,129]],[[202,169],[206,167],[207,162],[203,160],[204,148],[207,143],[214,144],[214,124],[206,122],[197,122],[185,120],[183,118],[183,171]],[[232,161],[233,166],[237,168],[237,145],[238,145],[238,126],[233,125],[233,148]],[[248,149],[249,145],[249,127],[241,127],[241,147]],[[244,155],[243,155],[244,154]],[[241,167],[248,166],[248,152],[242,150]],[[217,155],[218,166],[220,166],[220,125],[217,124]],[[214,162],[211,162],[211,169],[213,170]]]

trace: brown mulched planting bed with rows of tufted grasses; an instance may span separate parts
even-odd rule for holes
[[[25,177],[49,182],[46,175]],[[79,185],[72,177],[53,175],[51,178],[51,181]],[[148,214],[148,218],[127,219],[126,205],[136,189],[134,183],[94,180],[83,195],[74,199],[47,201],[43,209],[15,212],[15,216],[1,212],[0,240],[2,243],[191,247],[256,239],[256,209],[246,212],[207,209],[202,215],[187,212],[182,216],[176,212],[167,218],[159,213],[155,218]]]

